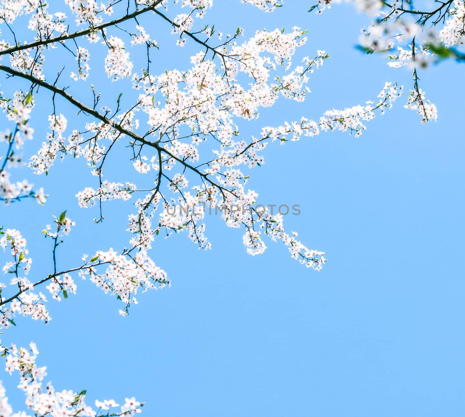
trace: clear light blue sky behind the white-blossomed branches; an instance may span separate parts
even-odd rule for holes
[[[266,14],[216,0],[206,14],[215,29],[234,33],[240,25],[246,37],[255,29],[297,25],[308,29],[309,38],[298,56],[317,49],[330,54],[312,74],[307,101],[280,98],[258,121],[242,123],[245,138],[264,125],[302,115],[316,119],[333,107],[376,100],[385,81],[404,84],[408,93],[408,70],[354,49],[368,18],[350,5],[321,16],[306,13],[312,4],[289,0]],[[170,27],[156,16],[141,24],[161,45],[153,54],[154,73],[187,68],[189,56],[200,50],[189,41],[184,49],[174,47]],[[106,80],[99,50],[91,51],[96,70],[88,83],[66,77],[62,83],[87,103],[90,82],[100,85],[102,104],[116,107],[120,91],[131,102],[131,83]],[[131,53],[136,62],[143,57],[135,48]],[[64,49],[47,54],[49,80],[67,57]],[[211,251],[197,250],[184,234],[155,242],[151,255],[173,286],[138,297],[128,317],[118,316],[122,303],[116,298],[77,280],[76,296],[49,301],[48,325],[19,317],[2,343],[35,341],[38,364],[47,366],[55,389],[86,389],[89,403],[136,396],[146,402],[145,416],[463,416],[464,69],[447,62],[420,74],[421,87],[438,107],[437,123],[421,125],[419,115],[403,108],[404,94],[359,139],[328,132],[266,149],[266,163],[252,170],[249,188],[261,202],[301,206],[301,215],[286,216],[285,226],[326,252],[321,272],[302,267],[270,241],[264,255],[248,256],[242,232],[212,216],[206,220]],[[6,92],[16,82],[3,75],[0,81]],[[48,128],[50,94],[41,91],[36,101],[35,138],[25,155],[40,147]],[[67,133],[81,127],[75,110],[58,102],[68,117]],[[118,152],[107,178],[138,178],[128,150]],[[51,269],[51,241],[40,230],[64,209],[77,225],[59,248],[62,267],[80,264],[83,253],[127,244],[130,203],[106,203],[106,219],[98,225],[92,221],[96,211],[79,209],[74,195],[97,186],[85,161],[58,162],[48,177],[27,168],[13,175],[27,176],[51,195],[43,207],[24,201],[0,209],[0,223],[28,240],[31,279]],[[23,393],[14,388],[18,375],[1,379],[15,410],[22,409]]]

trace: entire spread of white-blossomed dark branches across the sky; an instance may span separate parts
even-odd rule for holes
[[[281,0],[234,2],[264,12],[285,6]],[[310,11],[320,14],[333,3],[338,1],[318,1]],[[439,59],[464,60],[452,48],[464,43],[463,1],[440,2],[431,12],[401,1],[353,3],[370,19],[361,31],[359,49],[386,54],[390,67],[412,73],[405,107],[416,111],[423,123],[436,121],[436,106],[425,97],[419,73]],[[129,236],[126,248],[85,248],[91,255],[64,264],[72,262],[65,243],[79,225],[63,211],[42,229],[50,245],[50,270],[34,269],[30,274],[33,254],[25,236],[34,232],[24,229],[23,234],[13,221],[2,225],[0,247],[6,258],[2,271],[8,278],[0,284],[2,329],[16,325],[19,316],[49,323],[53,303],[79,296],[83,286],[113,296],[120,316],[127,316],[140,294],[171,286],[169,269],[162,269],[163,262],[155,259],[155,242],[184,233],[199,249],[211,249],[207,215],[212,212],[225,227],[241,230],[238,244],[251,256],[276,242],[306,268],[324,267],[323,248],[301,242],[298,232],[286,229],[285,215],[263,204],[252,169],[266,163],[266,148],[278,143],[284,146],[336,131],[359,138],[368,122],[392,108],[403,86],[385,82],[375,97],[380,83],[365,103],[342,109],[335,103],[336,108],[316,114],[309,114],[306,107],[290,121],[276,120],[272,126],[260,125],[254,135],[244,135],[243,127],[257,121],[265,108],[286,100],[309,100],[330,54],[309,45],[305,27],[246,33],[239,26],[226,33],[208,21],[212,8],[213,0],[65,0],[64,5],[0,0],[0,71],[13,77],[8,81],[12,85],[18,84],[12,94],[0,92],[6,116],[0,132],[0,200],[33,199],[44,204],[47,195],[41,185],[57,161],[81,164],[92,176],[73,192],[76,208],[91,211],[91,218],[100,223],[113,200],[121,200],[127,207],[127,227],[121,232]],[[428,21],[432,29],[426,28]],[[173,47],[184,47],[180,51],[188,53],[187,64],[157,59],[158,49],[165,47],[155,39],[163,39],[160,32],[174,35]],[[186,52],[186,47],[191,49]],[[53,60],[47,58],[57,54],[64,67],[55,71],[50,67]],[[89,83],[94,74],[115,82],[115,91],[110,92],[116,93],[113,102],[108,98],[113,94],[102,94],[102,87]],[[80,89],[88,95],[78,94]],[[34,125],[38,104],[50,108],[46,132]],[[33,155],[23,155],[31,140]],[[107,161],[114,157],[114,149],[126,152],[133,177],[109,174]],[[34,182],[40,182],[38,188],[16,176],[16,168],[26,165],[36,175]],[[100,226],[93,227],[98,233]],[[121,406],[99,398],[91,407],[86,405],[85,390],[55,391],[50,383],[42,383],[46,367],[36,365],[35,344],[29,348],[0,346],[7,372],[20,374],[19,388],[27,404],[27,411],[13,413],[0,384],[0,415],[106,417],[141,411],[143,404],[134,397],[119,400]]]

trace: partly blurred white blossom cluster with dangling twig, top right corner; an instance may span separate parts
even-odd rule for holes
[[[352,0],[347,0],[352,2]],[[322,13],[341,0],[319,0],[309,11]],[[361,29],[359,48],[367,54],[387,53],[387,65],[407,67],[413,71],[413,89],[405,108],[417,110],[421,122],[437,120],[436,106],[425,100],[419,87],[420,69],[433,61],[454,57],[459,61],[465,54],[452,48],[465,42],[465,5],[463,0],[439,1],[431,11],[418,4],[403,1],[354,0],[357,10],[375,16],[368,27]],[[429,7],[425,4],[425,7]]]

